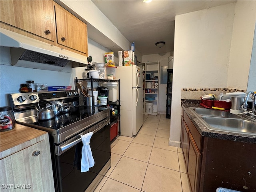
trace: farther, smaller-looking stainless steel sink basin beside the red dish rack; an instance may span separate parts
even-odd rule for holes
[[[213,116],[213,117],[226,117],[226,118],[241,118],[238,115],[232,114],[228,111],[206,109],[206,108],[194,108],[194,111],[202,116]]]

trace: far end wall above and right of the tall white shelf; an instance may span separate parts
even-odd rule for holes
[[[158,114],[166,114],[166,86],[167,84],[161,83],[161,66],[168,66],[168,57],[170,56],[170,52],[165,54],[151,54],[151,55],[143,55],[142,63],[146,62],[158,62],[159,61],[159,92],[158,92]]]

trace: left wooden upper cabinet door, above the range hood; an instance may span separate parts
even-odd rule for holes
[[[51,41],[56,39],[52,0],[8,0],[0,1],[0,5],[1,22],[21,29],[14,32],[26,35],[24,30]]]

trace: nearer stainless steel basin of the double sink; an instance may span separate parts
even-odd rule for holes
[[[210,130],[220,130],[234,133],[256,134],[256,123],[241,118],[220,118],[202,116]]]

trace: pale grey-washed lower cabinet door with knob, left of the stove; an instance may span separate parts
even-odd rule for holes
[[[40,151],[34,156],[35,151]],[[1,191],[54,191],[49,142],[42,140],[0,160]],[[7,185],[10,188],[7,188]]]

